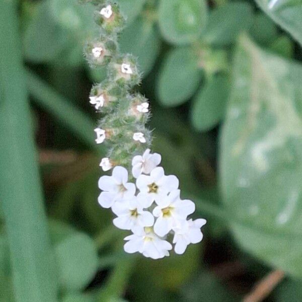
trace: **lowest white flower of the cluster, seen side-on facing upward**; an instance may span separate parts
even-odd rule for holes
[[[169,256],[169,251],[172,249],[172,245],[159,238],[152,228],[144,228],[140,234],[127,236],[124,240],[128,240],[124,245],[125,252],[130,254],[139,252],[153,259]]]

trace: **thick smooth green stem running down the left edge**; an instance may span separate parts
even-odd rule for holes
[[[0,202],[16,302],[55,302],[57,284],[22,66],[15,1],[0,2]]]

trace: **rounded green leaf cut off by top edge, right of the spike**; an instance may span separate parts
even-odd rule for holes
[[[195,41],[206,25],[207,4],[204,0],[161,0],[159,26],[170,43]]]

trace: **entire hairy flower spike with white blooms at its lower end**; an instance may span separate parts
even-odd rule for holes
[[[131,54],[121,54],[118,34],[125,19],[115,3],[89,1],[95,4],[98,36],[88,41],[85,55],[91,67],[106,65],[107,78],[93,86],[90,104],[101,115],[96,143],[105,143],[107,157],[101,160],[103,171],[98,201],[117,216],[113,224],[131,235],[125,238],[127,253],[139,252],[160,259],[169,256],[175,244],[183,254],[190,243],[198,243],[203,235],[205,219],[188,218],[195,211],[191,200],[180,198],[179,180],[165,175],[160,167],[161,155],[151,153],[152,133],[146,128],[150,110],[148,100],[134,92],[141,74]]]

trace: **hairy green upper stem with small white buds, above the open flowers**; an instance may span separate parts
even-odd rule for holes
[[[95,129],[96,142],[105,143],[107,157],[100,166],[104,171],[123,166],[130,171],[131,159],[142,154],[152,135],[145,127],[149,118],[147,99],[133,88],[140,84],[136,58],[122,54],[118,34],[125,24],[119,7],[113,2],[89,1],[95,5],[96,37],[85,46],[85,56],[92,68],[106,65],[107,78],[93,86],[90,103],[101,118]]]

